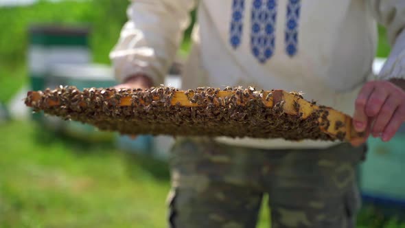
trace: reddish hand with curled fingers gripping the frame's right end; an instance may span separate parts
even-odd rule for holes
[[[381,137],[382,141],[389,141],[395,135],[405,121],[404,82],[398,79],[364,84],[355,102],[353,124],[365,137],[351,141],[353,146],[364,144],[370,134]]]

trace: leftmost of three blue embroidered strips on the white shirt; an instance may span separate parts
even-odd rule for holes
[[[244,0],[233,0],[229,42],[234,49],[242,43]]]

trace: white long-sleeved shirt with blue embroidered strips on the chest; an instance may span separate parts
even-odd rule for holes
[[[351,115],[362,84],[405,78],[405,0],[136,0],[111,59],[119,80],[145,73],[163,84],[189,12],[198,6],[183,89],[255,86],[302,91],[307,100]],[[376,21],[393,50],[379,76],[372,62]],[[402,32],[404,31],[404,32]],[[325,148],[283,139],[218,141],[256,148]]]

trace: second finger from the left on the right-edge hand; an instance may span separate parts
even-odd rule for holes
[[[389,90],[385,89],[385,87],[374,88],[373,92],[371,93],[369,100],[367,100],[366,104],[366,115],[368,117],[376,117],[386,98],[389,96]]]

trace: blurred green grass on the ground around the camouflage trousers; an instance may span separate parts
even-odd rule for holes
[[[0,227],[165,227],[167,164],[108,144],[56,137],[30,122],[0,125]],[[268,227],[262,209],[258,227]],[[359,226],[405,228],[375,208]]]

